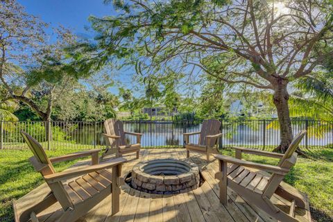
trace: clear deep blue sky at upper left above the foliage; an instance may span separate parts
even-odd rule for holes
[[[70,28],[71,31],[80,37],[93,37],[89,28],[89,15],[103,17],[105,15],[115,15],[112,5],[105,5],[103,0],[17,0],[26,12],[40,17],[43,22],[49,23],[51,27],[59,25]],[[51,33],[51,28],[49,29]],[[123,71],[115,77],[122,86],[133,87],[130,69]],[[118,94],[117,87],[112,87],[110,91]]]

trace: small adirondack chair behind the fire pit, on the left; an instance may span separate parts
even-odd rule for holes
[[[137,159],[139,158],[139,151],[141,148],[141,137],[142,133],[131,133],[123,130],[123,123],[117,119],[107,119],[104,121],[104,130],[103,133],[106,142],[108,144],[108,148],[106,148],[105,152],[102,154],[102,157],[106,155],[113,154],[112,148],[116,148],[116,157],[121,157],[126,153],[134,153],[137,152]],[[137,137],[136,144],[127,144],[125,135],[134,135]]]

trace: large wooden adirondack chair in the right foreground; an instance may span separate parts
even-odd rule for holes
[[[296,192],[284,185],[282,180],[291,167],[296,164],[297,153],[295,151],[305,134],[306,131],[303,130],[296,135],[284,154],[235,147],[236,158],[215,155],[216,159],[219,160],[219,172],[216,173],[216,178],[220,180],[220,202],[224,205],[227,204],[228,186],[248,200],[250,204],[256,205],[275,219],[278,219],[278,221],[298,221],[294,217],[295,207],[297,205],[300,208],[305,208],[306,200],[300,192]],[[278,166],[248,162],[241,160],[242,153],[275,157],[280,159],[280,162]],[[291,201],[289,214],[273,205],[271,202],[273,194]]]

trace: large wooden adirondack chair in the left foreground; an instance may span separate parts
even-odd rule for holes
[[[85,215],[104,198],[112,194],[112,214],[119,212],[119,194],[121,185],[121,165],[124,158],[117,158],[105,164],[98,164],[99,150],[74,153],[62,157],[49,158],[42,145],[25,132],[21,132],[26,144],[33,152],[29,160],[36,171],[39,171],[50,193],[39,203],[31,206],[17,216],[16,221],[38,221],[37,214],[57,201],[62,206],[62,215],[58,221],[76,221]],[[92,155],[92,166],[71,169],[56,173],[53,162],[73,160],[75,157]],[[108,169],[112,168],[112,171]]]

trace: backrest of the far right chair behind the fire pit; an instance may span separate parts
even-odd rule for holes
[[[216,135],[220,133],[221,122],[216,119],[207,119],[203,121],[203,126],[201,127],[200,137],[199,137],[199,145],[207,145],[206,136],[208,135]],[[212,139],[212,144],[216,143],[216,138]]]

